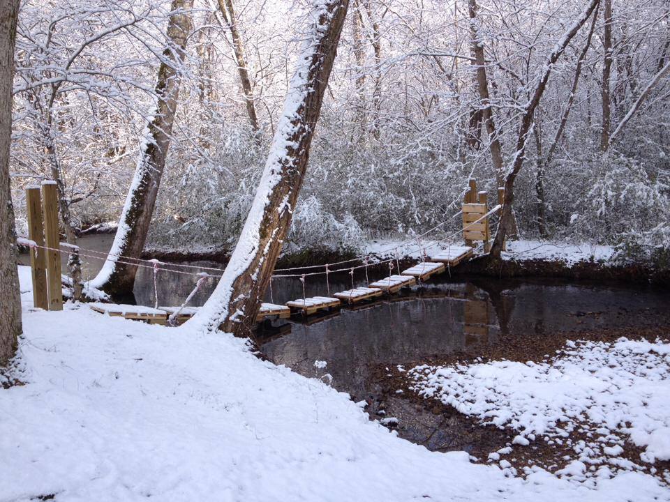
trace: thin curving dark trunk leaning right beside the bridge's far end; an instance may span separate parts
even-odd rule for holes
[[[496,238],[493,239],[493,245],[491,246],[491,252],[489,253],[491,258],[495,261],[500,259],[502,245],[505,243],[505,236],[509,234],[509,231],[512,228],[514,219],[514,213],[512,213],[512,204],[514,203],[514,180],[523,166],[523,160],[526,160],[526,140],[528,139],[530,128],[533,126],[533,114],[535,113],[535,108],[537,108],[539,100],[544,93],[544,89],[546,89],[546,82],[549,81],[553,64],[556,63],[560,55],[563,54],[565,47],[567,47],[572,38],[574,38],[581,26],[586,23],[598,3],[600,3],[600,0],[590,0],[586,10],[581,13],[579,18],[572,23],[572,26],[570,26],[563,37],[560,38],[560,41],[556,44],[556,48],[551,52],[544,65],[544,73],[540,76],[537,84],[535,84],[532,97],[523,109],[521,126],[519,126],[519,135],[516,138],[516,154],[514,156],[514,162],[512,163],[512,170],[505,177],[505,199],[502,204],[502,215],[500,216]]]

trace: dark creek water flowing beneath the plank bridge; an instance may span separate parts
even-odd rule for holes
[[[82,238],[82,248],[105,251],[112,236]],[[220,265],[190,262],[193,265]],[[84,266],[93,277],[101,261]],[[377,278],[379,274],[371,279]],[[158,303],[180,305],[197,281],[191,275],[158,273]],[[366,284],[364,271],[353,277],[355,286]],[[348,273],[324,280],[307,277],[275,279],[267,301],[285,303],[306,296],[325,296],[352,287]],[[204,284],[192,305],[202,305],[216,287]],[[154,304],[154,277],[140,268],[135,298],[141,305]],[[496,280],[452,282],[447,275],[433,277],[425,287],[413,287],[397,296],[343,308],[323,317],[291,319],[281,326],[265,324],[258,330],[260,351],[276,364],[291,367],[307,377],[332,378],[332,386],[354,400],[375,402],[400,419],[401,436],[434,450],[469,449],[472,431],[453,418],[412,404],[402,395],[380,402],[375,368],[417,363],[429,358],[466,351],[476,356],[486,345],[523,335],[552,335],[565,331],[626,329],[634,334],[645,326],[670,326],[670,293],[664,289],[625,284],[597,284],[560,280]],[[325,368],[315,367],[325,361]],[[371,410],[372,411],[372,410]]]

